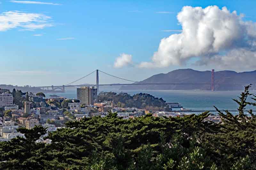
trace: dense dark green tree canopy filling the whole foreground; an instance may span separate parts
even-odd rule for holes
[[[209,112],[176,118],[151,114],[124,120],[117,113],[69,121],[35,143],[45,129],[20,128],[26,139],[0,143],[0,169],[178,169],[256,168],[256,120],[246,115],[249,87],[241,94],[239,115],[219,115],[222,123],[204,121]],[[255,96],[252,97],[255,100]],[[68,112],[65,113],[68,115]]]

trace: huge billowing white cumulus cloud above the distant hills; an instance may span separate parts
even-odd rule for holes
[[[255,22],[243,21],[243,15],[218,6],[184,6],[177,19],[182,32],[163,38],[152,61],[139,67],[185,65],[193,57],[199,57],[199,65],[256,67]]]

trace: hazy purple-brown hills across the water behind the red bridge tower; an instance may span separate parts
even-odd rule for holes
[[[256,84],[256,70],[236,72],[230,70],[215,72],[215,90],[242,90],[245,85]],[[178,69],[166,74],[153,75],[140,83],[197,83],[197,85],[133,85],[123,86],[122,90],[210,90],[211,71]],[[198,85],[207,83],[208,85]],[[252,89],[256,89],[253,85]]]

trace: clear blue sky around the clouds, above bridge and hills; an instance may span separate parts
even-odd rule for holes
[[[113,64],[122,53],[132,55],[135,64],[150,61],[161,39],[177,33],[164,30],[181,30],[176,16],[183,6],[226,6],[229,11],[243,13],[244,20],[255,21],[252,6],[256,4],[256,1],[198,0],[39,1],[53,4],[0,2],[2,15],[8,11],[39,14],[41,20],[36,24],[46,24],[37,29],[15,26],[0,31],[0,84],[33,86],[67,84],[96,69],[132,80],[179,68],[214,69],[193,65],[196,57],[186,65],[164,68],[114,68]],[[94,82],[93,75],[78,84]],[[100,76],[100,83],[122,82]]]

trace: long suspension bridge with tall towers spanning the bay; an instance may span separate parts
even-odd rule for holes
[[[90,76],[92,75],[93,73],[96,72],[96,84],[88,84],[88,85],[73,85],[74,83],[76,83],[77,81],[83,79],[83,78],[86,78],[87,76]],[[105,75],[108,75],[108,76],[111,76],[111,77],[114,77],[114,78],[118,78],[118,79],[121,79],[121,80],[125,80],[125,81],[129,81],[131,83],[124,83],[124,84],[99,84],[99,72],[105,74]],[[117,77],[117,76],[114,76],[114,75],[111,75],[111,74],[108,74],[104,71],[101,71],[101,70],[94,70],[93,72],[87,74],[86,76],[82,77],[82,78],[79,78],[73,82],[70,82],[66,85],[51,85],[51,86],[38,86],[39,88],[41,89],[51,89],[52,91],[62,91],[62,92],[65,92],[65,87],[82,87],[82,86],[96,86],[96,88],[98,89],[98,92],[99,92],[99,87],[100,86],[120,86],[120,85],[211,85],[211,90],[214,91],[214,70],[212,70],[212,75],[211,75],[211,83],[177,83],[177,82],[170,82],[170,83],[144,83],[144,82],[140,82],[140,81],[133,81],[133,80],[128,80],[128,79],[125,79],[125,78],[120,78],[120,77]]]

